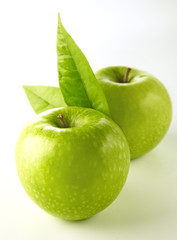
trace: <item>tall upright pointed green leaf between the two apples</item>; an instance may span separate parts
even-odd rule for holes
[[[59,14],[57,56],[59,85],[67,105],[94,108],[110,115],[98,80],[86,57],[63,27]]]

